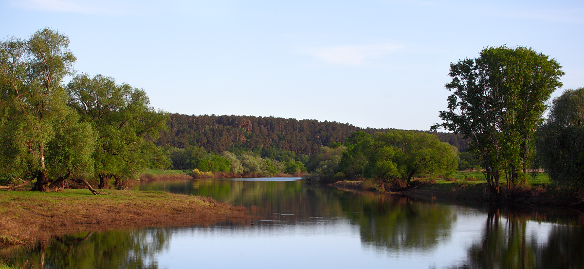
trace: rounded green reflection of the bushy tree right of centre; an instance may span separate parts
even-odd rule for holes
[[[456,215],[449,206],[413,202],[404,196],[339,196],[346,218],[359,225],[361,243],[392,253],[427,251],[450,236]]]

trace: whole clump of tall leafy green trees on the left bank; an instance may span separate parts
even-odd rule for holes
[[[169,166],[153,141],[167,116],[154,111],[142,89],[117,85],[113,78],[74,75],[69,39],[44,28],[27,40],[0,42],[0,177],[34,190],[85,184],[99,177],[107,188],[145,167]]]

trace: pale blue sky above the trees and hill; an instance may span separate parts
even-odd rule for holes
[[[562,65],[552,96],[584,87],[584,1],[0,1],[0,37],[43,27],[69,37],[77,73],[187,115],[428,130],[450,63],[503,44]]]

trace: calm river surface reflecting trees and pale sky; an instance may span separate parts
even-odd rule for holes
[[[298,178],[142,183],[212,196],[261,218],[55,237],[12,263],[44,268],[584,268],[570,209],[449,205],[341,191]]]

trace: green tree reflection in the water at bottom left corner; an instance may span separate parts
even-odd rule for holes
[[[158,268],[155,257],[170,239],[166,229],[75,233],[22,247],[6,260],[32,268]]]

